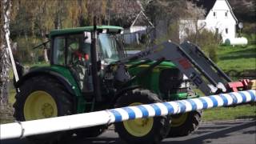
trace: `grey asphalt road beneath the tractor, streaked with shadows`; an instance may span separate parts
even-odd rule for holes
[[[31,144],[26,139],[10,139],[0,141],[1,144]],[[70,139],[59,142],[70,144],[122,144],[114,130],[106,130],[98,138]],[[202,123],[194,134],[182,138],[166,138],[161,144],[255,144],[256,121],[240,120],[233,122]]]

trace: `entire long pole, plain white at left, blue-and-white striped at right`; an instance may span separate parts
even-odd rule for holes
[[[210,109],[219,106],[232,106],[246,102],[256,102],[256,90],[211,95],[208,97],[191,98],[174,102],[127,106],[111,110],[27,122],[14,122],[0,125],[0,140],[99,126],[135,118],[149,118],[167,114],[186,113],[193,110]]]

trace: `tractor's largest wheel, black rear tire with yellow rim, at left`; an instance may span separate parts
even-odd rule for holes
[[[30,78],[20,87],[19,90],[20,92],[16,94],[16,102],[14,103],[14,118],[16,118],[18,121],[70,115],[74,112],[74,103],[71,95],[66,92],[65,88],[61,84],[52,78],[48,78],[46,76]],[[45,98],[47,100],[50,99],[51,101],[43,102],[43,99]],[[32,102],[32,100],[35,102]],[[42,105],[40,105],[42,107],[37,107],[38,105],[36,104],[38,103],[42,103]],[[42,109],[34,109],[34,111],[27,110],[27,108],[30,107],[31,109]],[[56,132],[51,134],[30,136],[27,138],[28,140],[39,144],[58,143],[63,140],[67,134],[71,133]]]

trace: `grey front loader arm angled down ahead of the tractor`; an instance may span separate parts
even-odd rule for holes
[[[162,42],[160,45],[123,58],[119,62],[126,63],[134,60],[158,61],[164,58],[166,61],[173,62],[204,94],[210,95],[226,92],[225,85],[230,78],[226,75],[223,78],[222,74],[218,72],[219,69],[215,70],[208,60],[200,59],[202,54],[192,51],[194,50],[192,49],[193,46],[195,45],[190,44],[190,42],[184,42],[181,46],[174,42]]]

